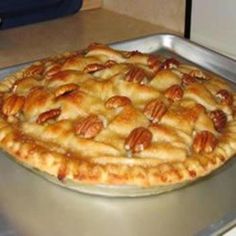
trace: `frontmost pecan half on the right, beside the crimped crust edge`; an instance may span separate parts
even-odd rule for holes
[[[197,133],[193,140],[193,150],[197,153],[210,153],[214,150],[217,139],[214,134],[209,131],[201,131]]]

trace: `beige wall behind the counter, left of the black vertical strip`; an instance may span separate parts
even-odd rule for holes
[[[184,32],[185,0],[103,0],[103,7],[177,33]]]

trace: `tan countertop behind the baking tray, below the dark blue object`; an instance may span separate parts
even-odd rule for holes
[[[163,32],[171,31],[104,9],[82,11],[0,31],[0,68],[81,49],[91,42],[110,43]]]

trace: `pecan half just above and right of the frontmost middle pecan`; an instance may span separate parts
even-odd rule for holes
[[[158,99],[150,101],[144,108],[144,115],[152,122],[157,123],[162,116],[167,112],[167,107],[164,102]]]

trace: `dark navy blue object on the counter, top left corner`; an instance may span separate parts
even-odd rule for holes
[[[82,0],[0,0],[0,29],[73,14]]]

